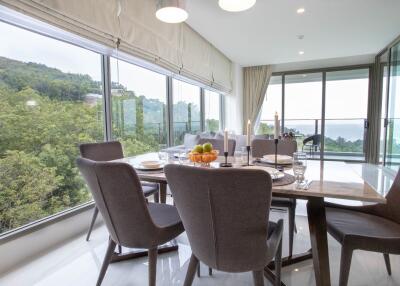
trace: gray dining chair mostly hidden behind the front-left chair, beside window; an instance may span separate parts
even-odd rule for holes
[[[93,161],[112,161],[124,158],[122,145],[118,141],[101,142],[101,143],[86,143],[79,146],[79,151],[82,158],[90,159]],[[154,195],[154,201],[158,202],[158,184],[142,182],[142,189],[145,197]],[[90,222],[89,230],[86,235],[86,240],[89,241],[90,235],[93,230],[94,223],[96,222],[99,210],[94,207],[92,220]]]

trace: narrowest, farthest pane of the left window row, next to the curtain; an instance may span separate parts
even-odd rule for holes
[[[204,90],[204,129],[209,132],[217,132],[221,128],[221,95],[219,93]]]

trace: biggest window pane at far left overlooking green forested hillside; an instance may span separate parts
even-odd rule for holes
[[[75,160],[104,120],[99,54],[2,22],[0,34],[4,233],[91,199]]]

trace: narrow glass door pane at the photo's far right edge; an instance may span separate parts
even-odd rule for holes
[[[400,165],[400,43],[391,49],[390,55],[386,165],[398,170]]]

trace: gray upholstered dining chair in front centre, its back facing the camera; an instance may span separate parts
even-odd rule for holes
[[[165,174],[192,248],[185,286],[192,284],[199,261],[225,272],[252,271],[261,286],[274,257],[275,282],[281,285],[283,221],[269,222],[267,172],[171,164]]]

